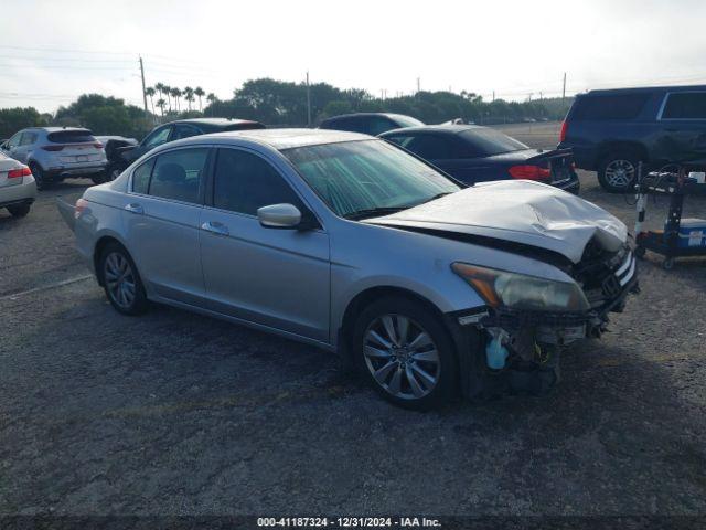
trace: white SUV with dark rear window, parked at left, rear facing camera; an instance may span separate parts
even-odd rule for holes
[[[88,129],[22,129],[0,145],[0,152],[28,165],[40,189],[66,177],[89,177],[96,183],[106,180],[106,151]]]

